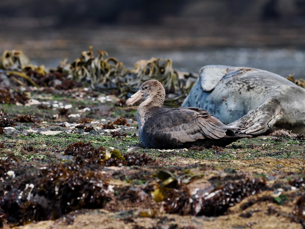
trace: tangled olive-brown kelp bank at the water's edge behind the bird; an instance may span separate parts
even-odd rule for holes
[[[117,58],[108,57],[106,51],[98,50],[97,53],[94,57],[90,46],[72,63],[68,64],[65,59],[56,69],[46,70],[43,65],[32,65],[22,51],[5,50],[1,66],[10,79],[23,86],[53,86],[56,89],[88,86],[103,93],[115,92],[123,99],[134,94],[143,82],[156,79],[167,92],[166,106],[180,104],[198,78],[198,74],[175,70],[172,60],[167,58],[138,60],[133,69],[128,69]]]

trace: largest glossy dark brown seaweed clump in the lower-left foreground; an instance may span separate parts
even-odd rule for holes
[[[38,194],[57,209],[52,218],[58,218],[72,209],[102,208],[107,200],[108,185],[100,171],[91,171],[74,164],[53,164],[41,171],[43,177]]]

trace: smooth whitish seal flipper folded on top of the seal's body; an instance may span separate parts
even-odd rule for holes
[[[206,65],[199,71],[200,87],[203,92],[212,92],[221,80],[242,73],[245,70],[249,71],[253,70],[253,68]]]

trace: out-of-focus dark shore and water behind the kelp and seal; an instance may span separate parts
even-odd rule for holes
[[[153,56],[305,78],[305,0],[1,0],[0,29],[1,53],[51,68],[93,45],[127,67]]]

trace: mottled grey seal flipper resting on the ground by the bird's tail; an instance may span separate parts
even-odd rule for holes
[[[251,110],[248,114],[228,124],[229,127],[246,128],[245,133],[260,135],[265,132],[271,133],[275,130],[274,124],[278,120],[281,106],[278,100],[268,99],[259,107]]]

